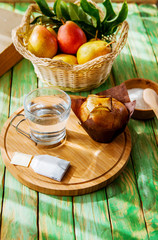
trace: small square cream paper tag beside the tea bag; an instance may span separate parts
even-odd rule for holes
[[[19,166],[28,167],[31,161],[31,158],[32,158],[32,155],[15,152],[10,163],[19,165]]]

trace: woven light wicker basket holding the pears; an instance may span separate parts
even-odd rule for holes
[[[110,74],[113,61],[126,43],[128,23],[124,21],[112,36],[112,40],[115,42],[111,53],[84,64],[70,65],[61,60],[39,58],[28,51],[25,33],[30,31],[30,22],[36,12],[40,12],[39,7],[36,4],[31,4],[20,26],[13,29],[12,39],[17,51],[32,62],[37,77],[49,86],[57,86],[71,92],[94,89],[104,83]]]

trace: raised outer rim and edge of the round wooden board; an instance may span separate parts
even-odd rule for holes
[[[14,168],[14,171],[11,168],[11,164],[9,161],[9,156],[7,155],[6,151],[5,151],[5,135],[7,133],[7,129],[10,126],[10,120],[12,119],[12,117],[14,117],[17,113],[20,113],[21,111],[23,111],[23,107],[19,108],[16,112],[14,112],[11,117],[6,121],[6,123],[4,124],[3,128],[2,128],[2,132],[1,132],[1,139],[3,139],[3,144],[1,144],[1,154],[2,154],[2,159],[4,161],[4,164],[6,166],[6,168],[8,169],[8,171],[22,184],[24,184],[25,186],[27,186],[28,188],[44,193],[44,194],[48,194],[48,195],[56,195],[56,196],[78,196],[78,195],[83,195],[83,194],[87,194],[87,193],[91,193],[94,191],[97,191],[103,187],[105,187],[107,184],[111,183],[115,178],[118,177],[118,175],[123,171],[123,169],[125,168],[128,159],[129,159],[129,155],[131,152],[131,136],[130,136],[130,131],[128,129],[128,127],[126,127],[124,134],[125,134],[125,151],[121,157],[121,160],[118,162],[118,164],[116,164],[113,168],[113,176],[111,177],[109,174],[109,172],[105,173],[104,175],[102,175],[101,177],[98,177],[97,179],[90,180],[87,181],[85,183],[78,183],[75,184],[77,185],[78,189],[74,189],[74,184],[73,185],[66,185],[66,190],[62,189],[63,185],[55,184],[53,183],[53,188],[47,188],[45,187],[45,189],[43,189],[43,186],[36,186],[33,184],[33,178],[31,178],[31,176],[29,177],[28,175],[25,175],[25,179],[21,178],[21,176],[19,175],[19,170],[17,170],[16,168]],[[111,171],[110,171],[111,172]]]

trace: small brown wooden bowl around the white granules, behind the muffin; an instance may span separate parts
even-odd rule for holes
[[[158,84],[151,81],[147,80],[144,78],[133,78],[129,79],[124,82],[127,89],[131,88],[152,88],[157,94],[158,94]],[[132,118],[134,119],[140,119],[140,120],[146,120],[146,119],[151,119],[155,117],[154,112],[151,109],[137,109],[135,108],[134,113],[132,115]]]

